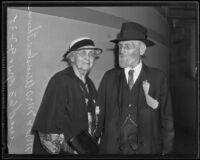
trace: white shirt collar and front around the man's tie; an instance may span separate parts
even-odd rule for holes
[[[131,69],[134,70],[133,79],[134,79],[134,83],[135,83],[140,75],[141,70],[142,70],[142,61],[140,61],[140,63],[135,68],[130,68],[130,67],[124,68],[127,83],[128,83],[128,72]]]

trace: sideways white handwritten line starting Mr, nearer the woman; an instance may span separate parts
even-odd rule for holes
[[[39,30],[42,28],[41,25],[33,27],[32,26],[32,11],[30,10],[30,7],[28,7],[28,23],[27,23],[27,47],[26,47],[26,81],[25,81],[25,99],[27,102],[27,113],[26,117],[28,117],[28,121],[26,123],[27,130],[25,133],[26,137],[26,148],[25,152],[32,152],[32,143],[33,143],[33,136],[30,135],[30,131],[33,125],[33,121],[35,118],[35,104],[34,104],[34,90],[33,86],[35,85],[34,76],[32,74],[32,61],[34,60],[34,57],[38,55],[37,52],[33,51],[32,44],[33,40],[35,40],[39,34]]]

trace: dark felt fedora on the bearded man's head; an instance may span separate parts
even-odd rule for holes
[[[117,39],[111,42],[118,43],[119,41],[140,40],[147,47],[153,46],[155,43],[147,39],[147,29],[135,22],[126,22],[122,24],[121,31]]]

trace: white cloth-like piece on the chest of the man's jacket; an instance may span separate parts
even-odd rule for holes
[[[143,81],[143,89],[144,89],[147,104],[151,108],[156,109],[158,107],[159,102],[149,95],[149,88],[150,88],[150,83],[147,82],[147,80]]]

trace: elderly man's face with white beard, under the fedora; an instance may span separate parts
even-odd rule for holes
[[[119,47],[119,65],[121,68],[135,67],[141,59],[141,47],[144,43],[138,40],[121,41]]]

